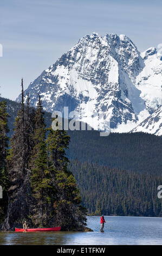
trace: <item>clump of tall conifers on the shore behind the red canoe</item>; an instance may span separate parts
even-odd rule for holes
[[[87,210],[81,205],[80,191],[68,170],[66,149],[70,137],[64,130],[46,127],[40,95],[37,108],[31,108],[23,80],[21,86],[21,110],[10,140],[6,102],[0,102],[0,229],[22,228],[26,221],[30,228],[93,231],[86,227]]]

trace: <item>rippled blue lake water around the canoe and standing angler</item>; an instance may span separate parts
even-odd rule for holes
[[[162,245],[162,218],[105,216],[104,233],[100,217],[87,220],[94,232],[0,232],[0,245]]]

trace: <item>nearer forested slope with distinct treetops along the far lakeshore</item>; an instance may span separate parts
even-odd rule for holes
[[[89,214],[162,217],[162,200],[157,196],[162,176],[77,160],[71,161],[69,168]]]

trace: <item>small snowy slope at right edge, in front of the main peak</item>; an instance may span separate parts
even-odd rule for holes
[[[153,114],[142,121],[131,132],[147,132],[154,135],[162,135],[162,106],[159,107]]]

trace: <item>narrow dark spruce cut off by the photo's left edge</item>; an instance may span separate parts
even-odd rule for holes
[[[7,103],[0,102],[0,186],[3,188],[3,198],[0,199],[0,224],[7,213],[9,176],[7,172],[8,150],[8,113]]]

